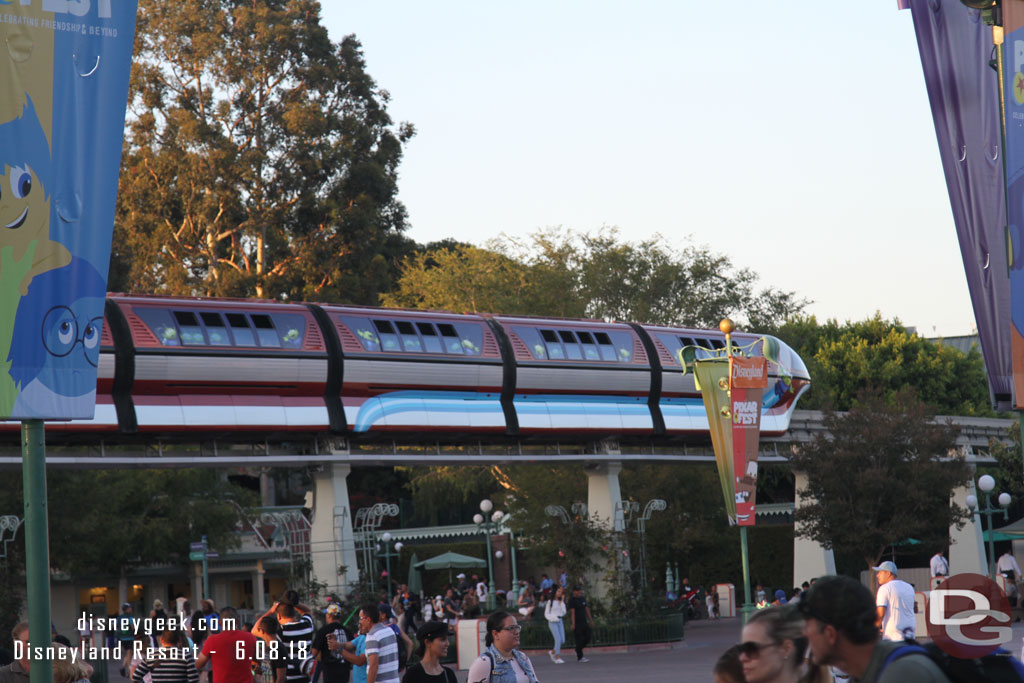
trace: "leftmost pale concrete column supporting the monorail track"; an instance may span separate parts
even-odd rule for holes
[[[311,554],[313,575],[327,590],[345,594],[359,580],[348,503],[348,473],[352,466],[328,465],[313,482]],[[342,568],[343,567],[343,568]]]

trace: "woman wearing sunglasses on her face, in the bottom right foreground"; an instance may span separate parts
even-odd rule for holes
[[[793,606],[755,612],[743,627],[739,660],[746,683],[806,683],[823,673],[804,661],[804,617]]]

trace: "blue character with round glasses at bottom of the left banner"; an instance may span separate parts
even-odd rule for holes
[[[92,416],[104,289],[80,259],[32,281],[14,322],[10,374],[20,392],[13,417]]]

